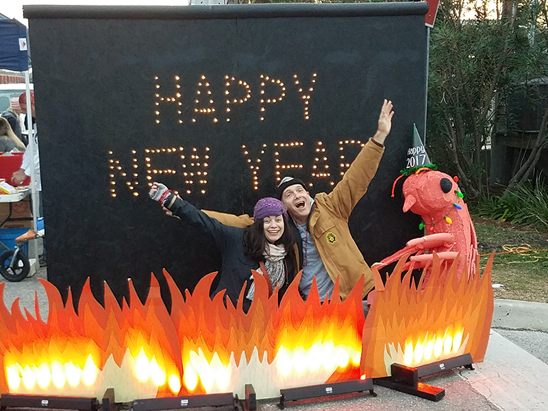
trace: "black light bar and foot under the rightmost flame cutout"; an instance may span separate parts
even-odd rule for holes
[[[449,371],[459,366],[473,369],[472,356],[468,353],[417,367],[392,364],[390,366],[392,377],[376,378],[375,384],[400,391],[401,393],[429,399],[430,401],[440,401],[440,399],[445,397],[445,390],[429,384],[423,384],[419,382],[419,378],[441,373],[442,371]]]

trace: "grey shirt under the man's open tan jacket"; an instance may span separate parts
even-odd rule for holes
[[[325,295],[328,295],[327,298],[331,297],[335,284],[327,274],[306,224],[297,224],[297,229],[299,229],[299,235],[303,240],[303,276],[301,277],[299,290],[302,295],[308,297],[310,288],[312,288],[312,279],[316,277],[320,299],[323,301]]]

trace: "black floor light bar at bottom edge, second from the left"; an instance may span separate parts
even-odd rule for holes
[[[238,395],[232,393],[188,395],[188,397],[166,397],[136,399],[133,411],[177,410],[179,408],[230,406],[238,410]]]

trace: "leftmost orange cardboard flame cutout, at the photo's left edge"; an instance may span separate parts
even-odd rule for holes
[[[35,317],[26,309],[26,318],[23,316],[18,299],[11,313],[0,304],[5,391],[102,397],[107,388],[120,386],[120,381],[129,377],[133,383],[116,390],[121,399],[126,393],[131,399],[179,393],[179,344],[155,277],[144,306],[129,280],[130,303],[124,301],[123,308],[106,284],[103,308],[93,297],[88,279],[78,314],[70,290],[64,305],[57,288],[45,280],[40,282],[49,300],[46,323],[40,319],[36,293]],[[0,284],[0,294],[3,287]]]

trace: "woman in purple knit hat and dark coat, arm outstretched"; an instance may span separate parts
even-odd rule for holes
[[[255,292],[251,270],[257,270],[269,279],[271,290],[279,288],[278,299],[282,298],[295,277],[297,264],[295,238],[286,229],[287,212],[281,201],[272,197],[260,199],[253,208],[253,224],[242,229],[219,223],[174,195],[164,184],[153,183],[149,195],[173,215],[213,236],[223,258],[214,294],[226,290],[226,296],[236,306],[247,282],[242,301],[247,312]]]

